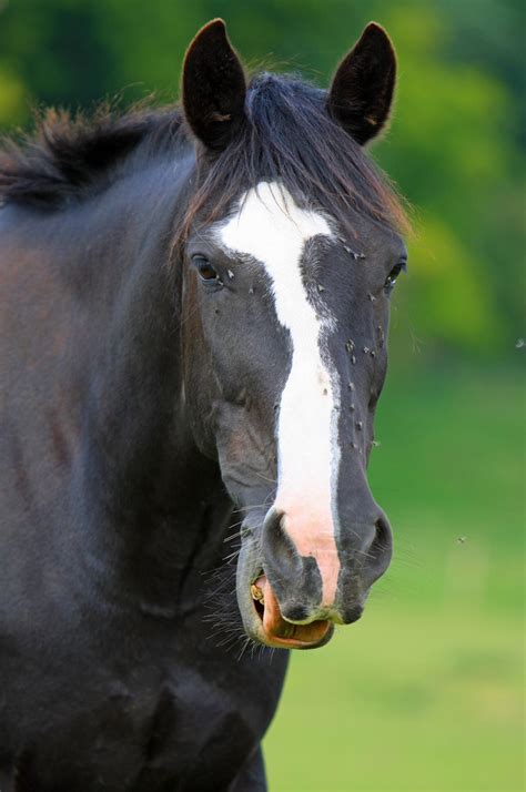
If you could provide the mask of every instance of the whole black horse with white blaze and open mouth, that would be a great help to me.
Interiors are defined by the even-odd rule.
[[[362,613],[406,253],[361,146],[394,82],[372,23],[328,92],[247,85],[215,20],[181,110],[4,144],[2,792],[262,790],[274,648]]]

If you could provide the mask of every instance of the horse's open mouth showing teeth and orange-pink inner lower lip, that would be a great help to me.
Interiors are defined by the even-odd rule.
[[[281,649],[314,649],[331,638],[333,625],[330,621],[318,620],[310,625],[293,625],[286,621],[264,572],[252,583],[251,596],[267,646]]]

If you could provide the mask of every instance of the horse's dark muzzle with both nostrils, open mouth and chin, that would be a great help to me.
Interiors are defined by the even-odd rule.
[[[388,522],[377,507],[365,524],[354,524],[341,538],[338,552],[323,558],[337,565],[337,586],[327,600],[317,558],[302,556],[271,509],[259,540],[243,548],[237,566],[237,601],[245,630],[255,640],[284,649],[327,643],[335,623],[362,616],[368,589],[385,571],[392,555]],[[347,541],[345,541],[347,537]]]

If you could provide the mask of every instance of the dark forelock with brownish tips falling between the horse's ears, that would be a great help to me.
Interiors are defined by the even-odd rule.
[[[240,195],[262,180],[282,183],[299,200],[322,207],[351,234],[356,213],[407,232],[395,189],[328,115],[325,97],[295,77],[255,77],[246,98],[247,123],[220,154],[201,152],[199,186],[182,237],[194,224],[205,226],[227,215]]]

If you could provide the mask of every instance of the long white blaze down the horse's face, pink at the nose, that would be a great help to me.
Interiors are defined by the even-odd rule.
[[[301,272],[305,243],[317,235],[333,236],[325,217],[300,209],[284,187],[269,182],[249,191],[237,213],[219,229],[225,247],[263,264],[277,319],[291,334],[291,370],[277,418],[274,506],[284,512],[284,527],[299,552],[316,558],[323,603],[331,606],[340,568],[335,542],[340,387],[322,349],[334,321],[308,301]]]

